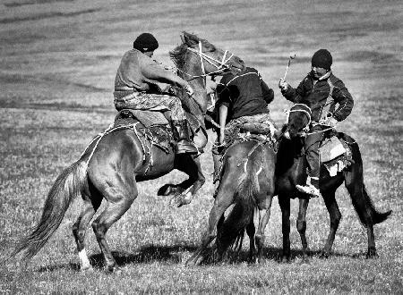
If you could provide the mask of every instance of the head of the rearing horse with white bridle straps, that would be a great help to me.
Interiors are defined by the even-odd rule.
[[[244,70],[242,59],[227,50],[212,45],[205,39],[187,32],[183,32],[181,39],[182,45],[177,46],[170,52],[170,55],[178,69],[188,75],[188,77],[184,77],[186,80],[220,74],[230,70]]]

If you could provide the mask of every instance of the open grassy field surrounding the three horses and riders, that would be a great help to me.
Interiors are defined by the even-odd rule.
[[[38,220],[47,191],[90,139],[113,121],[112,101],[120,57],[138,34],[159,39],[156,58],[182,30],[242,56],[275,89],[270,111],[279,125],[289,106],[277,83],[290,51],[296,52],[287,80],[296,86],[321,47],[333,54],[335,74],[355,98],[342,122],[359,143],[364,181],[379,211],[393,210],[375,226],[378,259],[364,258],[366,233],[347,190],[337,193],[343,215],[333,255],[322,259],[329,215],[322,199],[307,217],[312,250],[301,260],[291,229],[292,262],[279,264],[282,236],[277,200],[266,229],[262,265],[240,259],[223,265],[184,267],[200,243],[212,205],[212,161],[202,159],[206,184],[193,203],[173,209],[156,188],[182,181],[169,173],[142,182],[131,209],[108,232],[122,266],[105,274],[98,243],[87,235],[95,271],[81,273],[71,232],[81,200],[70,207],[47,246],[22,271],[18,261],[1,265],[0,294],[13,293],[402,293],[403,202],[401,194],[403,104],[401,4],[399,1],[73,1],[4,0],[0,4],[0,261]],[[212,140],[213,138],[210,138]],[[211,143],[209,143],[209,151]],[[291,224],[296,223],[292,203]]]

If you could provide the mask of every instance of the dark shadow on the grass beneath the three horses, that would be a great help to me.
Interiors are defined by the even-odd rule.
[[[175,245],[175,246],[156,246],[148,245],[144,246],[135,253],[126,251],[113,251],[112,255],[116,260],[118,266],[144,264],[152,262],[165,262],[172,264],[182,263],[182,254],[184,252],[194,252],[197,249],[194,245]],[[320,250],[311,250],[307,252],[308,257],[321,257],[322,252]],[[282,255],[281,248],[264,248],[263,258],[265,261],[279,262]],[[304,253],[301,249],[291,249],[290,262],[297,261],[299,257],[303,257]],[[331,252],[330,257],[351,257],[359,258],[364,257],[365,253],[347,254],[340,252]],[[101,253],[91,255],[89,257],[90,264],[95,269],[102,269],[105,266],[104,258]],[[249,262],[249,252],[247,250],[240,250],[238,252],[229,252],[227,257],[219,262],[220,264],[243,264]],[[203,259],[202,265],[214,265],[216,262],[213,259]],[[70,262],[68,265],[48,265],[41,266],[39,273],[51,272],[58,269],[70,269],[75,272],[80,272],[80,264],[78,262]]]

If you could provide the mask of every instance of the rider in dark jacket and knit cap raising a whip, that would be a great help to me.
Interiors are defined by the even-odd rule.
[[[279,89],[287,100],[307,105],[312,111],[310,129],[304,140],[308,178],[305,185],[296,185],[297,190],[312,198],[321,195],[319,147],[324,138],[324,131],[334,128],[337,122],[345,120],[354,105],[353,97],[343,81],[331,72],[331,64],[330,52],[320,49],[313,54],[311,72],[296,89],[293,89],[286,80],[279,81]]]

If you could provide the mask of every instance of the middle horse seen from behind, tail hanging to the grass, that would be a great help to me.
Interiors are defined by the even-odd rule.
[[[269,143],[247,139],[228,147],[222,162],[221,181],[210,211],[208,227],[202,235],[201,246],[186,265],[197,265],[211,255],[220,260],[232,246],[240,249],[245,230],[250,239],[250,261],[262,260],[264,229],[270,218],[275,190],[274,149]],[[224,213],[233,204],[225,218]],[[257,232],[253,223],[256,208],[259,212]],[[207,247],[215,238],[216,252],[211,254]]]

